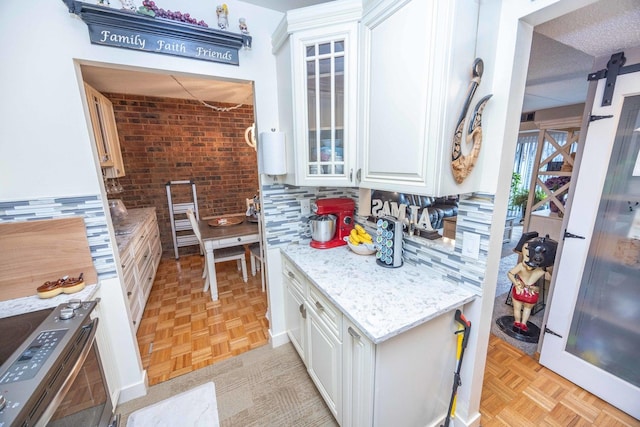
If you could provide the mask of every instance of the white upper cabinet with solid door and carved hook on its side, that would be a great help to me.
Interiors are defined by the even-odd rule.
[[[456,184],[451,153],[472,78],[478,3],[369,4],[360,32],[360,186],[432,196],[477,190],[479,168]]]

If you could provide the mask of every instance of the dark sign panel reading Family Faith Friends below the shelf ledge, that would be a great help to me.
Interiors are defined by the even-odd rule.
[[[91,43],[125,49],[144,50],[167,55],[185,56],[204,61],[238,65],[238,49],[225,46],[192,42],[172,37],[159,37],[144,31],[127,31],[100,24],[89,24]]]

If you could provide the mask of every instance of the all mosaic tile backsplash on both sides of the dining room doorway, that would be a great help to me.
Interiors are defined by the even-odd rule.
[[[300,201],[327,197],[350,197],[359,206],[358,188],[296,187],[285,184],[262,188],[267,246],[279,247],[290,243],[307,243],[311,231],[306,217],[300,212]],[[493,219],[494,197],[490,194],[462,196],[458,205],[455,245],[440,240],[405,237],[404,260],[424,265],[439,272],[454,283],[464,283],[480,290],[487,264],[487,250]],[[80,215],[85,220],[87,239],[99,279],[115,277],[114,248],[109,239],[107,220],[100,196],[43,198],[0,202],[0,222],[29,221]],[[374,225],[359,222],[373,231]],[[480,236],[478,259],[462,256],[464,232]]]

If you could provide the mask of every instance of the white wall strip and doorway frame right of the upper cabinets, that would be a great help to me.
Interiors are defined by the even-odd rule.
[[[506,218],[533,26],[594,1],[481,1],[476,54],[485,63],[483,84],[491,86],[488,92],[493,93],[491,108],[488,105],[483,115],[483,139],[488,141],[483,151],[493,160],[481,158],[477,167],[482,168],[485,191],[496,195],[494,224],[504,224]],[[458,390],[456,426],[480,425],[478,411],[503,231],[504,227],[492,227],[483,297],[465,307],[473,326],[462,368],[465,385]]]

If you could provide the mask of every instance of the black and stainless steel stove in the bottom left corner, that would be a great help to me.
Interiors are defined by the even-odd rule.
[[[96,304],[0,319],[0,427],[118,425],[95,346]]]

